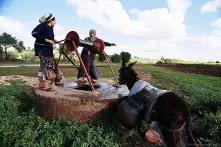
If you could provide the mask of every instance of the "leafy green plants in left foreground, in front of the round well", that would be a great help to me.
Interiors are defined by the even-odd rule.
[[[74,120],[46,121],[38,115],[37,105],[27,94],[22,81],[0,86],[1,146],[120,146],[141,141],[136,130],[117,121],[93,120],[78,124]],[[130,138],[135,137],[135,140]]]

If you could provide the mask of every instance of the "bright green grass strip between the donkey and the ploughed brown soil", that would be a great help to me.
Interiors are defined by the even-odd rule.
[[[159,67],[144,66],[145,71],[149,71],[158,79],[165,89],[172,89],[183,94],[192,105],[199,101],[220,102],[221,99],[221,78],[200,74],[186,74],[165,70]],[[179,88],[170,87],[173,83]]]

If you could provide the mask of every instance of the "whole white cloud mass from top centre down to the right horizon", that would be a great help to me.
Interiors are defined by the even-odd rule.
[[[128,51],[145,58],[220,60],[220,31],[205,35],[186,33],[185,14],[191,0],[167,0],[168,8],[132,9],[119,0],[68,0],[79,17],[111,31],[118,46],[107,53]],[[108,36],[108,35],[106,35]],[[210,54],[208,54],[210,53]]]

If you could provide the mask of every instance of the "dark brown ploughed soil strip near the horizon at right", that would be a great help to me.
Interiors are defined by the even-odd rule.
[[[188,64],[161,64],[156,65],[167,69],[182,71],[185,73],[196,73],[202,75],[210,75],[221,77],[221,66],[208,66],[208,65],[188,65]]]

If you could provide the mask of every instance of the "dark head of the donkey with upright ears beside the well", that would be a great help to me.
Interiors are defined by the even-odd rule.
[[[140,79],[133,69],[135,64],[136,62],[126,65],[122,62],[119,70],[119,84],[126,84],[129,90],[133,87],[134,83]]]

